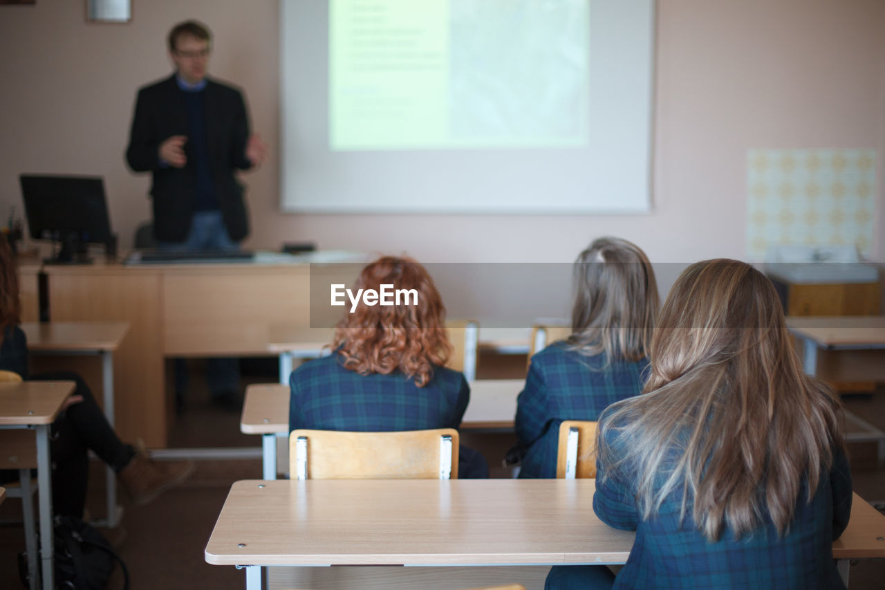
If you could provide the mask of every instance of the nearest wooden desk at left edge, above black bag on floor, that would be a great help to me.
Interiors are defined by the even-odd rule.
[[[28,571],[36,587],[42,578],[44,590],[53,590],[52,570],[52,465],[50,461],[50,425],[73,392],[73,381],[23,381],[0,383],[0,430],[36,431],[37,498],[40,507],[40,559],[42,575],[36,571],[37,552],[33,539],[27,539]],[[30,467],[28,465],[27,467]]]

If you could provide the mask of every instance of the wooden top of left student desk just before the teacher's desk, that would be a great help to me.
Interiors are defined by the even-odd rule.
[[[129,322],[22,322],[27,349],[42,351],[114,351]]]

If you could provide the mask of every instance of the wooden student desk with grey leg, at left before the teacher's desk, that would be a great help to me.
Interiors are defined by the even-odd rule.
[[[129,331],[128,322],[23,322],[27,352],[34,355],[97,355],[102,359],[102,400],[104,416],[114,425],[113,353]],[[96,522],[114,528],[119,521],[117,475],[106,467],[107,519]]]

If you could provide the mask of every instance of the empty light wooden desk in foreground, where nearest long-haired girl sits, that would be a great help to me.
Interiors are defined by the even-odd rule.
[[[205,559],[245,566],[248,590],[273,565],[625,563],[635,533],[596,517],[595,488],[593,479],[239,481]],[[882,538],[885,516],[855,494],[834,557],[885,557]]]

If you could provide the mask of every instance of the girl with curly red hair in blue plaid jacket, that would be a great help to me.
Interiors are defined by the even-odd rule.
[[[289,377],[289,431],[418,431],[455,428],[470,400],[461,373],[443,365],[452,353],[445,307],[427,270],[408,258],[383,257],[362,270],[358,289],[418,292],[417,305],[345,311],[333,353]],[[411,301],[411,300],[410,300]],[[458,477],[489,477],[481,454],[460,447]]]

